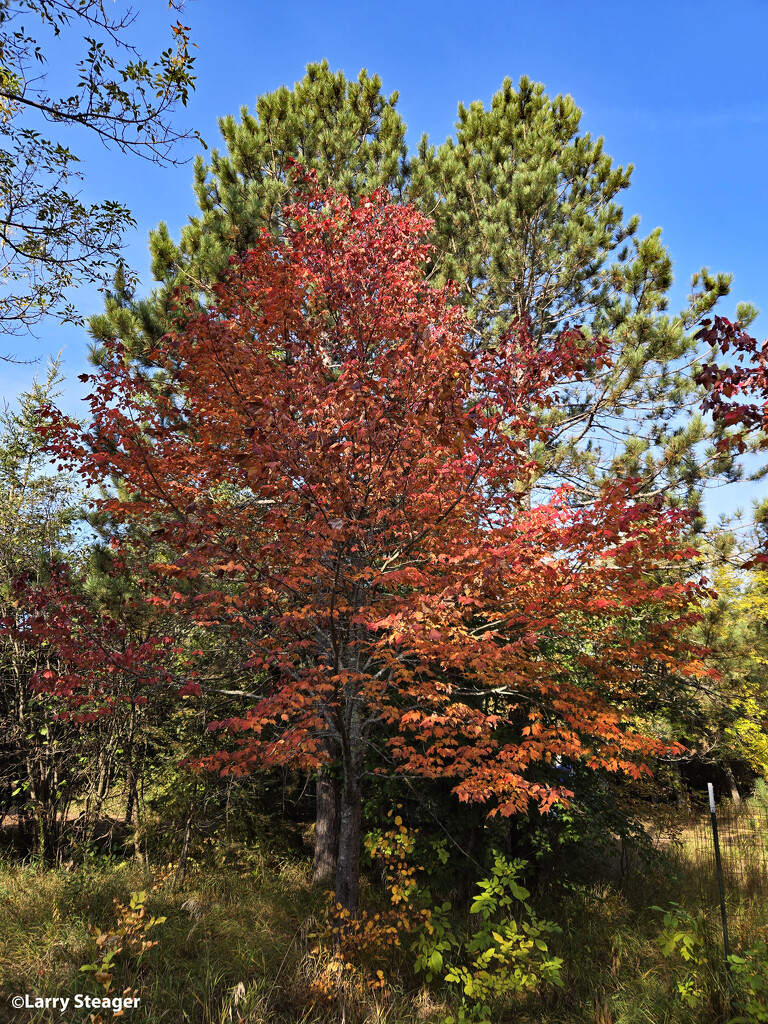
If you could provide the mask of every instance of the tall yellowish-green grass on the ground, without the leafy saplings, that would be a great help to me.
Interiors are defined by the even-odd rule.
[[[748,808],[748,811],[750,809]],[[755,808],[752,809],[756,811]],[[755,817],[755,813],[753,813]],[[739,825],[746,830],[746,818]],[[765,824],[763,818],[760,818]],[[724,829],[725,833],[725,829]],[[724,845],[733,863],[758,851],[745,878],[727,863],[731,886],[729,914],[733,944],[768,934],[768,900],[757,859],[763,847]],[[760,833],[766,842],[766,830]],[[538,992],[499,1006],[494,1024],[694,1024],[726,1020],[722,979],[712,984],[703,1004],[683,1005],[676,979],[684,964],[665,958],[658,943],[660,914],[653,904],[677,901],[691,912],[706,907],[717,923],[709,881],[711,864],[706,835],[683,829],[669,852],[622,880],[599,877],[563,886],[549,884],[535,894],[538,913],[556,921],[562,933],[552,952],[564,961],[564,987]],[[752,854],[750,854],[752,857]],[[222,862],[222,860],[224,862]],[[748,865],[749,866],[749,865]],[[711,872],[710,872],[711,873]],[[153,888],[154,887],[154,888]],[[126,952],[116,958],[113,992],[136,988],[141,1004],[125,1019],[169,1024],[440,1024],[449,1014],[450,992],[427,987],[408,965],[407,941],[392,962],[389,988],[364,990],[355,997],[349,984],[316,997],[317,982],[328,977],[332,953],[317,953],[312,938],[323,918],[324,894],[309,884],[308,865],[300,860],[266,861],[241,851],[219,856],[215,844],[207,858],[194,863],[184,891],[174,893],[172,874],[147,874],[127,861],[87,861],[77,870],[40,869],[0,864],[0,1022],[85,1024],[89,1011],[68,1009],[13,1011],[13,994],[41,996],[102,994],[85,965],[99,956],[96,936],[116,927],[115,900],[146,891],[147,912],[163,915],[152,930],[158,945],[139,958]],[[373,886],[369,899],[375,899]],[[148,933],[147,933],[148,934]],[[721,958],[717,930],[709,932],[714,963]],[[324,973],[325,972],[325,973]],[[717,976],[717,969],[713,977]],[[314,994],[313,994],[314,993]],[[104,1021],[111,1015],[104,1016]]]

